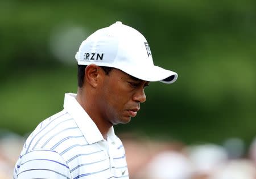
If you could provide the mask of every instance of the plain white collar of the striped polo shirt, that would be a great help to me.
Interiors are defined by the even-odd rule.
[[[64,109],[74,118],[77,126],[89,144],[104,139],[96,124],[85,112],[84,108],[77,102],[75,93],[65,93]],[[114,127],[112,126],[108,132],[108,137],[114,140],[114,135]]]

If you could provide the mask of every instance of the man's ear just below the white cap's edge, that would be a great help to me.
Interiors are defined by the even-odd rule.
[[[85,83],[90,84],[90,86],[96,88],[98,86],[98,82],[100,82],[99,78],[101,78],[102,71],[99,66],[91,64],[86,66],[85,68]]]

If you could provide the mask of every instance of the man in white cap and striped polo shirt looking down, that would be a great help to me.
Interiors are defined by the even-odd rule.
[[[129,178],[113,125],[136,116],[149,82],[177,79],[154,66],[146,39],[121,22],[90,35],[76,60],[77,95],[66,93],[64,109],[31,133],[14,178]]]

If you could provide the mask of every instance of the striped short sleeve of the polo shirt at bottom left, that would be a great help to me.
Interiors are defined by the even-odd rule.
[[[16,173],[14,178],[17,179],[72,178],[63,157],[52,150],[32,150],[20,156],[14,172]]]

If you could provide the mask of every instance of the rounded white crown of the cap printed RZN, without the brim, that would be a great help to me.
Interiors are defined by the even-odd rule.
[[[121,22],[99,29],[84,40],[76,54],[79,65],[95,63],[119,69],[122,66],[154,65],[147,40]]]

